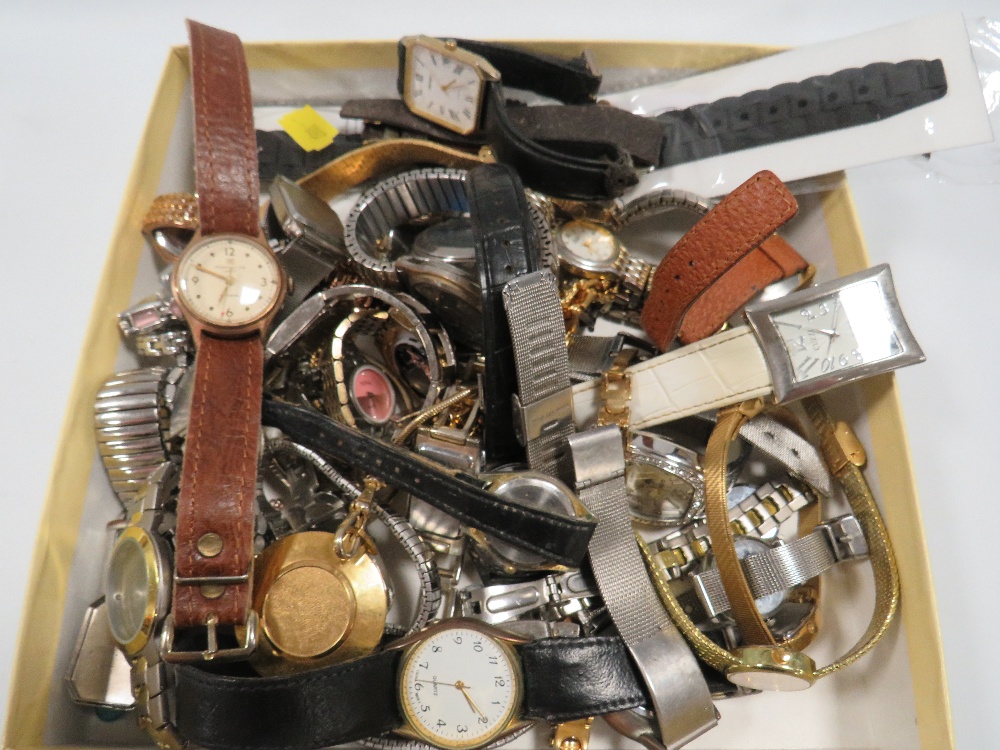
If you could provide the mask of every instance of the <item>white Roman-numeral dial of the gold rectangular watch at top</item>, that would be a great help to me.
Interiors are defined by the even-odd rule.
[[[414,44],[406,75],[407,102],[416,114],[458,133],[476,129],[484,82],[475,67]]]

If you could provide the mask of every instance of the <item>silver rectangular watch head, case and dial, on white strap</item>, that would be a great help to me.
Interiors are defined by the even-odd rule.
[[[779,402],[922,362],[889,266],[749,305]]]

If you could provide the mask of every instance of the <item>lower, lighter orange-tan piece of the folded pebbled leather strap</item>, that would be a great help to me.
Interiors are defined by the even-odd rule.
[[[768,284],[802,273],[806,259],[784,239],[772,234],[744,255],[694,301],[677,338],[692,344],[711,336]]]

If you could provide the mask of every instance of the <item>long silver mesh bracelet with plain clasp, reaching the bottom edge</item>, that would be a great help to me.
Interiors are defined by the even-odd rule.
[[[619,428],[569,439],[580,501],[597,517],[590,564],[604,604],[649,690],[660,738],[679,748],[717,723],[698,661],[660,602],[636,545]]]

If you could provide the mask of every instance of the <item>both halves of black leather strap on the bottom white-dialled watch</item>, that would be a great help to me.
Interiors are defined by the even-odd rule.
[[[617,636],[545,638],[516,649],[525,719],[565,721],[648,705]],[[397,674],[389,649],[346,664],[284,677],[177,668],[177,728],[217,750],[313,750],[397,729]]]

